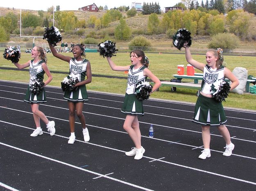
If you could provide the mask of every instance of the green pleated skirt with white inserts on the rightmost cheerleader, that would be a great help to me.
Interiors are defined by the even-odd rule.
[[[222,103],[199,94],[193,121],[202,125],[220,126],[227,122]]]

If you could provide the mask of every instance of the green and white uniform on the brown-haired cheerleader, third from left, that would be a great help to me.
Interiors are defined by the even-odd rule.
[[[145,66],[141,66],[135,70],[134,65],[129,67],[125,101],[121,110],[126,115],[144,115],[142,101],[136,97],[135,89],[138,83],[147,79],[147,76],[143,75],[145,68]]]

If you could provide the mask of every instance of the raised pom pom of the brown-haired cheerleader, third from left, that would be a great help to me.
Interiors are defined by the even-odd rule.
[[[118,49],[116,49],[116,43],[112,43],[111,40],[106,40],[98,46],[98,52],[100,52],[100,56],[103,56],[103,58],[116,56],[116,51],[118,51]]]

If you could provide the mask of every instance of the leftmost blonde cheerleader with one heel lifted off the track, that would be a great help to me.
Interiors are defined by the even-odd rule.
[[[46,65],[47,57],[45,52],[43,51],[43,48],[40,46],[35,46],[31,51],[31,57],[33,59],[31,61],[27,61],[25,64],[14,63],[14,65],[16,65],[16,67],[18,67],[19,69],[29,67],[30,83],[34,79],[39,79],[39,81],[43,82],[43,76],[46,73],[48,79],[44,82],[45,87],[46,85],[48,85],[48,83],[50,83],[50,81],[52,81],[52,74],[50,73]],[[34,94],[30,91],[30,88],[28,87],[24,101],[30,103],[34,121],[36,124],[36,130],[34,130],[34,132],[30,136],[36,137],[37,135],[43,135],[43,130],[41,129],[40,125],[40,119],[46,124],[50,135],[54,135],[54,121],[49,121],[44,113],[39,110],[39,104],[46,102],[45,89],[43,88],[43,90],[39,92],[39,94]]]

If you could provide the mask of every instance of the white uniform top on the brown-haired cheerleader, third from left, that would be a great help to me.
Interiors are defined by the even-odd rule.
[[[126,89],[127,94],[134,94],[136,85],[138,85],[138,83],[143,82],[147,79],[147,76],[143,75],[145,68],[146,68],[145,66],[141,66],[138,69],[134,69],[134,65],[131,65],[129,67],[127,89]]]

